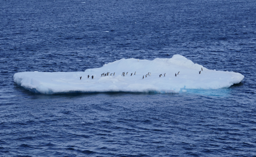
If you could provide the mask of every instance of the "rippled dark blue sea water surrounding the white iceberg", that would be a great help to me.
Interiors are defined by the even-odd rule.
[[[176,94],[56,95],[13,81],[174,54],[244,80]],[[0,0],[0,156],[255,157],[255,76],[255,0]]]

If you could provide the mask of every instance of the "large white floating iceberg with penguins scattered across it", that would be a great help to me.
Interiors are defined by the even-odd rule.
[[[199,71],[201,74],[199,74]],[[136,71],[136,75],[134,75]],[[180,71],[180,72],[179,72]],[[102,76],[103,73],[109,76]],[[122,73],[125,72],[125,76]],[[126,75],[126,73],[128,74]],[[146,74],[151,73],[151,76]],[[175,76],[175,73],[179,75]],[[112,76],[110,74],[112,73]],[[115,75],[113,76],[113,74]],[[131,73],[132,76],[131,76]],[[161,77],[159,75],[162,74]],[[164,77],[164,74],[165,77]],[[87,76],[90,75],[90,78]],[[91,76],[94,76],[92,79]],[[143,78],[144,75],[144,79]],[[80,77],[82,79],[80,80]],[[177,93],[186,89],[228,88],[244,76],[229,71],[216,71],[194,64],[181,55],[156,58],[153,61],[120,59],[101,68],[84,72],[22,72],[14,74],[14,82],[37,93],[57,94],[73,92],[157,92]]]

